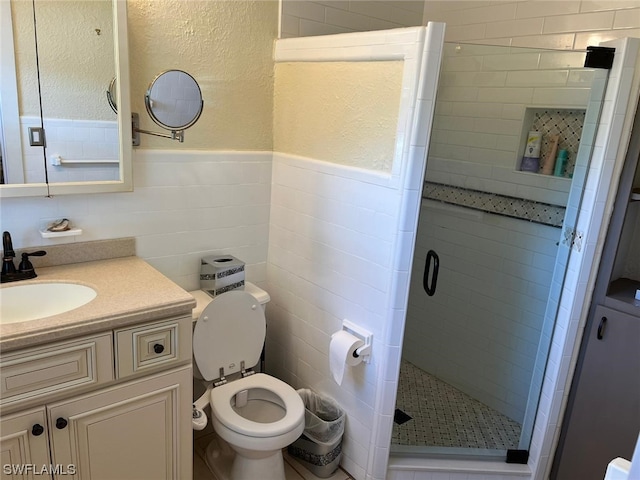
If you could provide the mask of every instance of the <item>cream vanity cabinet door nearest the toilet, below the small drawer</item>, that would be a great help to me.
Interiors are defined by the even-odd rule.
[[[191,478],[191,367],[49,405],[54,463],[82,480]]]

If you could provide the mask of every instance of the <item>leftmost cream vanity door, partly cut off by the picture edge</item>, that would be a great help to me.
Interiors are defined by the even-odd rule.
[[[40,474],[51,464],[44,407],[4,416],[0,423],[0,476],[3,479],[48,478]]]

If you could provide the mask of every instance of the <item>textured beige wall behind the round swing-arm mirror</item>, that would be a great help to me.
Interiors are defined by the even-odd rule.
[[[141,128],[160,130],[144,94],[168,69],[198,81],[204,111],[183,144],[142,136],[142,148],[271,150],[273,40],[278,2],[129,0],[131,104]]]

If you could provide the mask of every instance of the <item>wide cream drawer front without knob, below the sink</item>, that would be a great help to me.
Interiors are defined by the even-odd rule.
[[[3,407],[109,382],[113,380],[111,333],[4,354],[0,379]]]

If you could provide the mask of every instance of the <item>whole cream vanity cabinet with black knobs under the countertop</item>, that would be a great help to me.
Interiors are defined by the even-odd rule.
[[[0,376],[0,478],[191,478],[190,316],[2,354]]]

